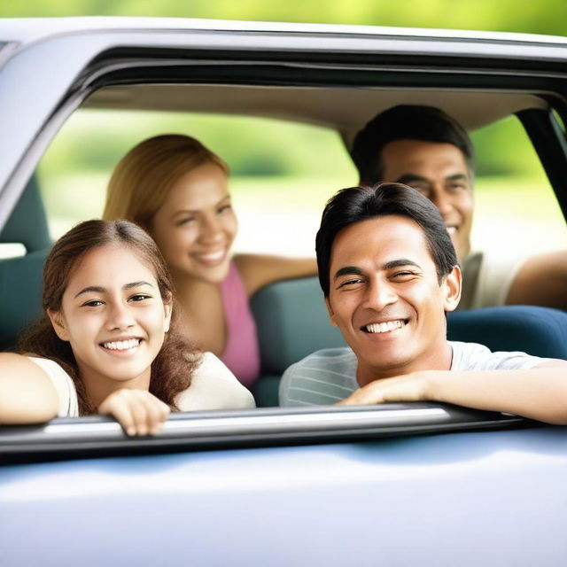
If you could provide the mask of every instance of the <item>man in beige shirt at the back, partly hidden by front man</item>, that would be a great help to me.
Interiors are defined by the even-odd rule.
[[[530,258],[470,252],[474,151],[465,130],[446,113],[394,106],[362,128],[351,154],[360,183],[406,183],[439,208],[462,265],[461,309],[504,304],[567,309],[567,252]]]

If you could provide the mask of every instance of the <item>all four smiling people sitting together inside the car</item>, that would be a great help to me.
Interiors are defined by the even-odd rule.
[[[99,413],[145,435],[170,409],[251,408],[245,386],[260,353],[249,300],[317,268],[350,348],[292,365],[283,406],[439,400],[567,423],[566,361],[449,342],[446,323],[462,295],[467,308],[565,307],[563,252],[504,266],[506,277],[470,252],[472,146],[438,109],[378,115],[352,155],[361,186],[325,207],[315,265],[232,257],[224,161],[189,136],[138,144],[113,172],[105,220],[83,222],[50,252],[45,314],[21,338],[23,354],[0,353],[0,423]]]

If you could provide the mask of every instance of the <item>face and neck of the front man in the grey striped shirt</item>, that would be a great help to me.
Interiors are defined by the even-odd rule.
[[[448,369],[445,312],[461,272],[439,284],[422,229],[390,215],[341,230],[331,250],[330,321],[358,359],[359,384],[420,369]]]

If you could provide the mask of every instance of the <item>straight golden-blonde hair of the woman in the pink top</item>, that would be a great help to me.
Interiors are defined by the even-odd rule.
[[[108,183],[103,219],[128,219],[144,229],[182,176],[206,163],[229,166],[195,138],[177,134],[154,136],[137,144],[120,159]]]

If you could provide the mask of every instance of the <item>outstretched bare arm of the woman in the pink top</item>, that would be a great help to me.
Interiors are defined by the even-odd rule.
[[[294,277],[315,276],[315,258],[284,258],[263,254],[239,254],[235,257],[238,272],[245,283],[248,297],[268,285]]]

